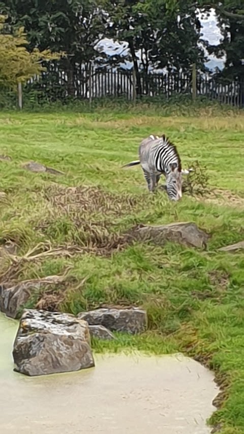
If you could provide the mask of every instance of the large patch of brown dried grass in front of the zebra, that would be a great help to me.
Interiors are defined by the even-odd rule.
[[[130,236],[114,230],[114,221],[135,210],[139,205],[137,198],[84,186],[55,185],[48,187],[44,194],[50,217],[38,222],[36,229],[50,236],[58,230],[60,217],[67,217],[72,224],[69,230],[71,250],[106,256],[123,249],[130,241]]]

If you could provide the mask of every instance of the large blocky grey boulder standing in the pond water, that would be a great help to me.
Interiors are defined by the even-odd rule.
[[[29,309],[14,341],[15,371],[44,375],[95,366],[88,324],[74,315]]]

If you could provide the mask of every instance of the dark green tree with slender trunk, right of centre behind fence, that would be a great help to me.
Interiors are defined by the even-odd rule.
[[[169,13],[164,0],[104,2],[111,25],[106,36],[126,41],[129,56],[137,74],[137,93],[141,94],[139,71],[147,76],[151,68],[191,69],[196,63],[204,69],[204,55],[200,41],[200,22],[195,5],[190,8],[181,2],[177,13]],[[190,43],[189,43],[190,41]],[[141,52],[141,59],[138,58]],[[109,62],[121,62],[121,56],[111,56]]]

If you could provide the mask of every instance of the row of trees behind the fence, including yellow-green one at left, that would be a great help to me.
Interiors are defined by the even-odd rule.
[[[123,68],[130,62],[141,95],[141,76],[151,70],[206,71],[206,54],[226,56],[225,80],[244,81],[242,0],[4,0],[0,1],[0,85],[14,86],[46,70],[43,79],[67,77],[75,95],[75,76],[83,68]],[[222,40],[202,39],[199,12],[215,9]],[[103,38],[123,41],[111,55],[99,49]],[[139,54],[138,54],[139,53]],[[6,62],[6,59],[8,60]],[[58,67],[54,67],[58,65]],[[56,74],[56,78],[55,78]]]

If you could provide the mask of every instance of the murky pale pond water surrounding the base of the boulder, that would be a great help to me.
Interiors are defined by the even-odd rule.
[[[17,322],[0,313],[0,432],[207,434],[218,388],[175,356],[96,355],[96,368],[29,378],[13,371]]]

